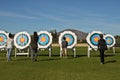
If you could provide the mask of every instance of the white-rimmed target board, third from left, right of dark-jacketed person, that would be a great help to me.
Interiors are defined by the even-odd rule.
[[[40,31],[38,33],[38,47],[47,48],[52,44],[52,35],[47,31]]]

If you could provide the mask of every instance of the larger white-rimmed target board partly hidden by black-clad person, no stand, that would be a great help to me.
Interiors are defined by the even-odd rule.
[[[92,47],[92,48],[97,48],[98,45],[98,40],[100,39],[99,34],[103,34],[100,31],[93,31],[88,34],[86,40],[87,43]]]

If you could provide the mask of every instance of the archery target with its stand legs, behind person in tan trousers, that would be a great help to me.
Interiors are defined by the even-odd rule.
[[[63,37],[65,37],[66,41],[68,42],[67,49],[71,49],[73,51],[74,57],[76,57],[75,45],[77,43],[77,36],[75,35],[75,33],[71,32],[71,31],[64,31],[59,36],[60,57],[62,57],[62,45],[61,44],[62,44]]]

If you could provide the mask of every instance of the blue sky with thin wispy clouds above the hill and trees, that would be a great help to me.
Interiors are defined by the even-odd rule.
[[[120,0],[0,0],[0,30],[54,29],[120,35]]]

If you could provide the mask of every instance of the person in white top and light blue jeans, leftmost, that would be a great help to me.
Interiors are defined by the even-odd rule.
[[[12,34],[9,33],[9,38],[7,39],[7,42],[6,42],[7,61],[11,61],[12,47],[13,47],[13,37],[12,37]]]

